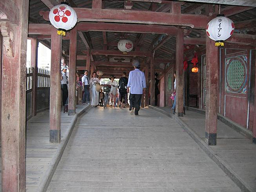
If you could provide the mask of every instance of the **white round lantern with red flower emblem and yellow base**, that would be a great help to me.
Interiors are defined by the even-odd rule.
[[[58,35],[66,36],[66,31],[72,29],[77,23],[75,10],[66,5],[60,4],[50,10],[49,18],[51,24],[58,29]]]

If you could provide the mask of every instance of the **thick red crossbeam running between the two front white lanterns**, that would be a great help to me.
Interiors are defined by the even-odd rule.
[[[115,22],[187,26],[195,29],[205,29],[209,18],[203,15],[173,14],[152,11],[131,11],[111,9],[74,8],[78,22]],[[49,11],[40,11],[44,19],[49,20]]]

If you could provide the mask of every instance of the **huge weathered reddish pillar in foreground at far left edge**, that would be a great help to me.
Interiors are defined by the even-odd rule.
[[[2,0],[1,13],[12,18],[0,22],[2,54],[2,191],[26,191],[26,60],[28,0],[15,4]],[[5,10],[5,8],[8,10]],[[8,14],[9,15],[9,14]],[[15,19],[16,18],[16,19]],[[12,22],[13,21],[13,22]]]

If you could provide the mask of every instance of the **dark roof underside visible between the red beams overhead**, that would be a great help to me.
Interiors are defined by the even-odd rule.
[[[30,24],[50,24],[42,16],[39,15],[39,11],[49,11],[50,9],[44,4],[47,0],[33,0],[30,1],[29,7],[29,23]],[[44,3],[42,3],[44,2]],[[47,1],[50,2],[50,1]],[[152,3],[157,1],[102,1],[103,9],[115,9],[115,10],[136,10],[136,11],[155,11],[155,12],[170,12],[172,10],[172,1],[161,1],[160,3]],[[208,1],[210,2],[210,1]],[[227,1],[229,2],[229,1]],[[243,2],[243,1],[241,1]],[[92,1],[84,0],[70,0],[71,7],[78,8],[92,8]],[[236,27],[236,33],[252,34],[256,33],[256,9],[254,7],[242,7],[231,5],[212,5],[206,3],[193,2],[181,2],[181,14],[192,15],[206,15],[209,16],[209,9],[218,12],[228,13],[228,17],[233,20]],[[243,8],[243,11],[241,11]],[[235,10],[236,12],[232,11]],[[233,12],[233,13],[230,13]],[[248,25],[243,25],[243,22],[248,22]],[[103,24],[103,23],[102,23]],[[144,24],[147,25],[147,24]],[[175,26],[178,27],[178,26]],[[182,27],[186,30],[185,37],[187,38],[205,38],[205,30],[192,29],[190,27]],[[167,64],[175,60],[176,54],[176,36],[159,34],[159,33],[136,33],[136,32],[110,32],[110,31],[82,31],[77,37],[77,55],[84,55],[87,49],[90,50],[118,50],[117,42],[120,39],[130,39],[134,42],[134,50],[150,52],[154,54],[154,58],[159,62]],[[87,44],[84,42],[86,40]],[[50,39],[41,40],[45,45],[50,45]],[[62,48],[67,55],[69,55],[69,40],[63,40]],[[194,51],[205,49],[205,45],[184,45],[184,54],[190,57]],[[117,61],[126,62],[134,58],[133,56],[115,56],[115,55],[93,55],[93,61]],[[143,56],[137,57],[142,62],[146,62],[147,59]],[[85,60],[77,60],[77,66],[84,66]],[[160,69],[159,64],[156,65],[156,69]],[[117,66],[113,66],[116,69]],[[97,70],[105,69],[104,66],[96,66]],[[108,69],[112,68],[108,66]],[[122,67],[124,69],[124,67]]]

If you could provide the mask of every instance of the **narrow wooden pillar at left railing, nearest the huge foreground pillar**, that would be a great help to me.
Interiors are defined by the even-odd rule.
[[[37,95],[37,55],[38,55],[38,40],[31,39],[31,67],[33,68],[32,76],[32,116],[36,115],[36,95]]]

